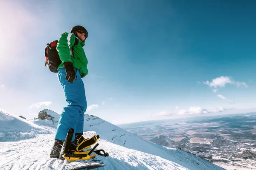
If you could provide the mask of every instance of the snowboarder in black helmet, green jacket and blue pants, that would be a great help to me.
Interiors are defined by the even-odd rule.
[[[58,80],[64,89],[68,105],[63,108],[58,122],[55,142],[50,153],[51,158],[59,157],[70,128],[75,132],[71,140],[74,146],[78,146],[78,141],[84,140],[82,134],[87,101],[81,78],[88,74],[88,61],[83,49],[87,37],[88,32],[84,27],[74,26],[70,33],[62,34],[57,43],[56,49],[61,59],[61,64],[58,66]]]

